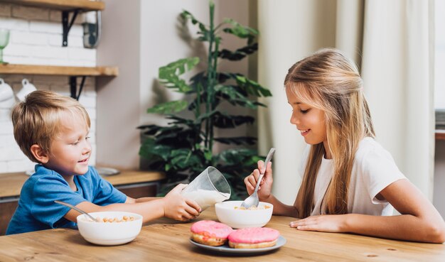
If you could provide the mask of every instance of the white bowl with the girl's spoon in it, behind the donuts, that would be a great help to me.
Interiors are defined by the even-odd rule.
[[[242,210],[242,201],[225,201],[215,204],[215,212],[218,220],[234,229],[245,227],[262,227],[269,222],[274,211],[274,205],[266,202],[259,202],[259,209]],[[268,206],[269,208],[265,208]]]

